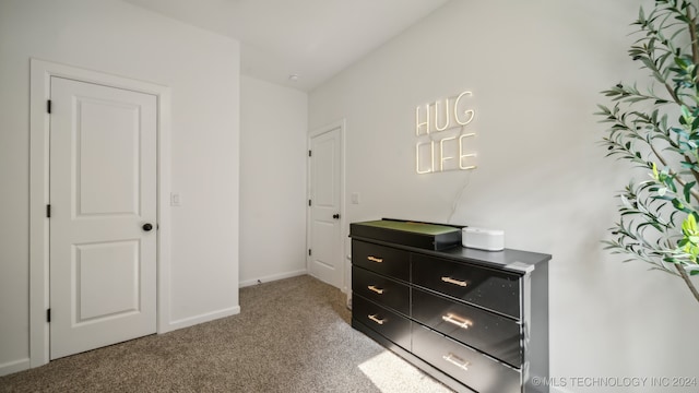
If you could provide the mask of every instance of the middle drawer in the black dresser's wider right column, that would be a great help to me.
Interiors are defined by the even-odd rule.
[[[522,333],[511,319],[419,289],[413,289],[411,315],[509,365],[522,366]]]

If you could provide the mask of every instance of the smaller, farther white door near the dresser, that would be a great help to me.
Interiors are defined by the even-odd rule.
[[[309,273],[342,288],[341,131],[333,129],[310,141]]]

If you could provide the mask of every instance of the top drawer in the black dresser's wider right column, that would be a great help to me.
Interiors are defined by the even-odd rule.
[[[514,274],[412,254],[413,284],[520,319],[520,277]]]

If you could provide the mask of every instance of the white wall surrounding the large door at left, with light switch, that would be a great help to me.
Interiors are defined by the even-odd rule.
[[[239,44],[118,0],[3,0],[0,374],[29,356],[31,57],[171,87],[182,203],[171,210],[168,329],[237,312]]]

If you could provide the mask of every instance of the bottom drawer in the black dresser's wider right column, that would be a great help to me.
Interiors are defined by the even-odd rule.
[[[481,393],[521,392],[519,371],[413,324],[413,353],[459,382]]]

